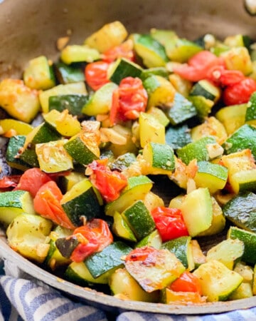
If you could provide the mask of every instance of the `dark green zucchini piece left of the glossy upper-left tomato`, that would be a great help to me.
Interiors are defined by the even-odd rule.
[[[66,65],[65,63],[57,63],[55,65],[55,74],[61,84],[79,83],[85,81],[85,73],[81,66]]]

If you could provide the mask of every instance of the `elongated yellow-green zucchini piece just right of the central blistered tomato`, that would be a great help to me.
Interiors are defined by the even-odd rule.
[[[116,211],[122,213],[135,201],[143,200],[152,186],[153,182],[147,176],[139,175],[128,178],[127,187],[122,190],[117,200],[113,200],[106,205],[105,213],[107,215],[114,215]]]

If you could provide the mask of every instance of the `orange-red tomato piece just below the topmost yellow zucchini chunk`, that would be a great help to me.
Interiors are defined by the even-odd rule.
[[[115,46],[112,49],[105,51],[102,54],[102,60],[107,61],[108,63],[117,60],[117,58],[126,58],[130,61],[134,61],[134,51],[132,39],[124,41],[119,46]]]

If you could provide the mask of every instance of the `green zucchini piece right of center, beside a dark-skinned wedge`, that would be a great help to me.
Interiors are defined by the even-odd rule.
[[[181,161],[186,165],[188,165],[190,161],[193,161],[193,159],[197,161],[209,161],[209,148],[210,146],[215,146],[215,142],[213,136],[206,136],[179,148],[176,153],[178,158],[181,158]]]

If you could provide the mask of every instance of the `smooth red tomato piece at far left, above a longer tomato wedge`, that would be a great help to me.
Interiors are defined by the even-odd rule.
[[[34,198],[39,188],[50,180],[50,177],[40,168],[29,168],[21,175],[15,190],[27,190]]]

